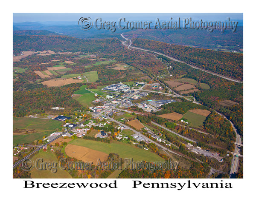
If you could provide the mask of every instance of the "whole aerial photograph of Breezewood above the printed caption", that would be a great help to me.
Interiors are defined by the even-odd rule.
[[[13,13],[12,29],[13,178],[243,178],[243,13]]]

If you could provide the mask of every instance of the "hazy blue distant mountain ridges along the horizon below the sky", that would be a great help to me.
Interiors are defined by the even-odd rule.
[[[141,38],[156,40],[175,45],[195,46],[197,48],[214,49],[217,51],[243,52],[243,27],[238,26],[236,32],[215,30],[189,29],[119,29],[110,32],[108,29],[82,30],[76,22],[23,22],[13,23],[14,34],[18,35],[62,35],[86,40],[115,38],[123,40],[122,33],[132,39]],[[16,31],[16,32],[15,32]],[[19,32],[17,32],[19,31]],[[35,32],[33,32],[35,31]],[[36,32],[38,31],[38,32]]]

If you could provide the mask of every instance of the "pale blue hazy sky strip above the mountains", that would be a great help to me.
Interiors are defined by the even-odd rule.
[[[13,13],[13,23],[26,21],[44,22],[44,21],[78,21],[81,17],[90,17],[91,19],[101,17],[105,20],[118,20],[125,17],[129,20],[177,20],[177,17],[192,17],[193,20],[212,20],[224,21],[228,17],[233,20],[243,20],[243,13]]]

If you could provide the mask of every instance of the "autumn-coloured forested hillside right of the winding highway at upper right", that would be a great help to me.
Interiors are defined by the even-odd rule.
[[[143,39],[134,39],[133,45],[169,55],[208,71],[243,80],[243,54],[191,48]]]

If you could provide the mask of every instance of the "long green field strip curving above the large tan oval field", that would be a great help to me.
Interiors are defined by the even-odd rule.
[[[150,150],[140,149],[131,144],[124,144],[121,142],[111,142],[110,144],[104,142],[96,142],[85,139],[75,139],[69,144],[87,147],[93,150],[101,151],[106,154],[117,153],[123,159],[133,159],[134,161],[164,161],[160,156],[150,152]]]

